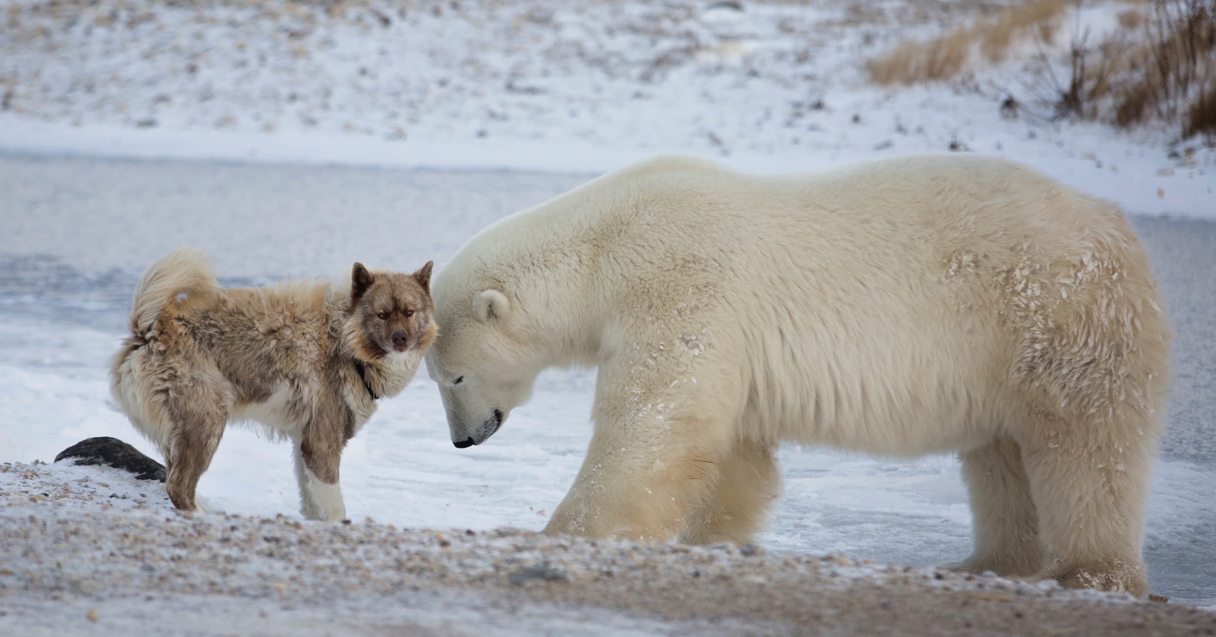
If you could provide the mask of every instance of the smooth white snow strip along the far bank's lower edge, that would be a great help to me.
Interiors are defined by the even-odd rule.
[[[1100,136],[1102,130],[1076,136]],[[1097,141],[1097,140],[1096,140]],[[1118,148],[1108,148],[1110,157]],[[722,163],[736,170],[779,174],[824,170],[878,157],[863,150],[809,153],[733,153],[728,157],[672,147],[629,150],[580,140],[449,140],[390,141],[325,133],[226,133],[209,130],[140,130],[113,125],[74,128],[0,114],[0,152],[24,156],[113,158],[139,160],[220,162],[259,165],[334,165],[446,170],[539,171],[593,176],[659,152],[674,152]],[[941,153],[942,151],[925,151]],[[1085,157],[1003,152],[1082,192],[1118,203],[1143,215],[1216,219],[1216,167],[1177,167],[1169,160],[1127,154],[1104,163],[1093,152]],[[1128,153],[1131,151],[1127,151]]]

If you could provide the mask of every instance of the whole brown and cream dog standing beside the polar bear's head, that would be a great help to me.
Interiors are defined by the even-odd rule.
[[[344,519],[342,450],[377,399],[409,384],[435,337],[432,265],[406,275],[356,263],[342,282],[227,289],[196,249],[150,266],[111,391],[164,455],[174,506],[197,508],[225,425],[248,422],[292,441],[300,512]]]

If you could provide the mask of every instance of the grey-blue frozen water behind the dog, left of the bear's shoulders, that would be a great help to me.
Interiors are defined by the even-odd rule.
[[[356,260],[412,272],[443,261],[490,221],[590,179],[2,154],[0,175],[0,253],[30,258],[4,267],[38,270],[28,276],[80,292],[96,286],[36,258],[55,255],[74,276],[137,276],[165,253],[196,246],[229,283],[331,277]]]

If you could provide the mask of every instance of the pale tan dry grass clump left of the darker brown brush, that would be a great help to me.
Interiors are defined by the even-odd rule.
[[[866,63],[869,77],[882,84],[948,80],[978,58],[1001,62],[1009,46],[1024,38],[1051,41],[1066,0],[1035,0],[1008,7],[997,16],[925,43],[903,43]]]

